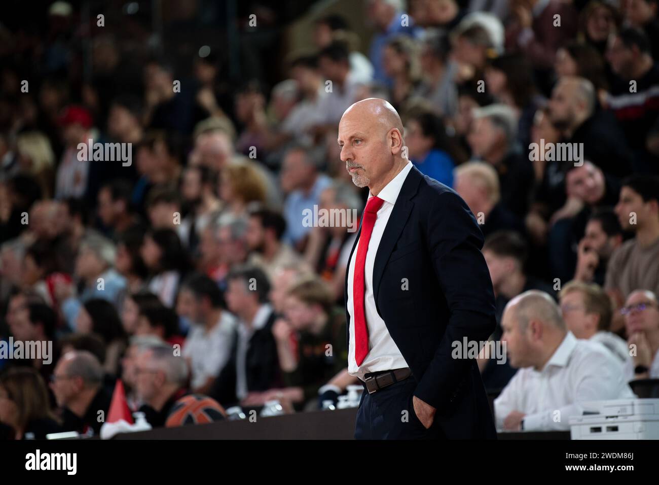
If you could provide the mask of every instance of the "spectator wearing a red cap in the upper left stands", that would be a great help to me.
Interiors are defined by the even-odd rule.
[[[90,160],[86,156],[80,157],[83,158],[82,161],[79,160],[78,144],[87,145],[88,140],[92,138],[92,115],[81,106],[67,106],[59,117],[59,125],[62,128],[65,150],[57,168],[55,198],[80,198],[86,193]]]

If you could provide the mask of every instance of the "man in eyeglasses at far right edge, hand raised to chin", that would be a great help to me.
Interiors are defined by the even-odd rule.
[[[620,313],[625,317],[629,337],[627,343],[632,354],[625,364],[625,377],[628,381],[659,379],[659,307],[656,295],[649,290],[636,290],[629,295]]]

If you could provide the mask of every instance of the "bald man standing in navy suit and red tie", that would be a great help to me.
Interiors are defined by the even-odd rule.
[[[453,342],[496,327],[476,219],[413,167],[385,100],[348,108],[338,143],[353,183],[370,189],[345,281],[348,370],[364,385],[355,437],[496,437],[475,360],[451,356]]]

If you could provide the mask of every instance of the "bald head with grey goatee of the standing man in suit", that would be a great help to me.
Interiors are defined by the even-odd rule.
[[[367,98],[345,110],[337,141],[353,183],[373,195],[408,163],[401,117],[386,100]]]

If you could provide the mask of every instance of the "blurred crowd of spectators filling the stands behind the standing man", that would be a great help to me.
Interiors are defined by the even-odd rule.
[[[368,189],[337,125],[368,97],[391,102],[409,159],[473,211],[499,317],[525,290],[576,295],[561,309],[577,338],[606,333],[627,367],[659,377],[658,11],[5,3],[0,338],[50,340],[55,356],[0,360],[0,422],[16,437],[98,434],[117,378],[154,426],[186,393],[293,412],[357,383],[343,292],[358,220],[304,215],[361,214]],[[130,163],[80,161],[88,140],[130,143]],[[545,152],[559,143],[583,151]],[[479,365],[493,393],[515,372]]]

